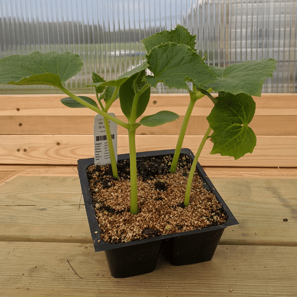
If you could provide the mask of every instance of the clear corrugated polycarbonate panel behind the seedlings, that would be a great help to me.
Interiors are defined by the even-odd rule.
[[[197,35],[206,63],[279,61],[263,92],[297,93],[297,0],[1,0],[0,58],[33,51],[79,54],[82,71],[67,81],[74,93],[94,70],[113,79],[145,59],[141,39],[181,24]],[[2,86],[0,94],[56,93],[47,86]],[[157,93],[176,93],[162,84]]]

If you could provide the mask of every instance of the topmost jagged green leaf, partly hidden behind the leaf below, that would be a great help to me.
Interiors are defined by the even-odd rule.
[[[177,25],[174,30],[171,31],[162,31],[155,33],[147,38],[141,40],[144,44],[146,51],[149,53],[154,47],[160,44],[166,44],[168,42],[176,44],[185,44],[188,45],[192,50],[195,50],[196,45],[196,35],[191,35],[189,31]]]

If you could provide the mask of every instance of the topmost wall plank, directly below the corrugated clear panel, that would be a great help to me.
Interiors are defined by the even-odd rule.
[[[80,94],[96,100],[92,94]],[[216,96],[216,94],[213,94]],[[53,95],[0,95],[0,115],[95,115],[88,108],[68,108],[61,104],[63,94]],[[297,115],[297,94],[262,94],[253,96],[256,102],[256,115]],[[178,111],[184,115],[189,102],[188,94],[151,94],[150,102],[144,115],[160,110]],[[192,115],[209,115],[213,103],[206,96],[195,104]],[[123,115],[119,100],[110,108],[110,112]]]

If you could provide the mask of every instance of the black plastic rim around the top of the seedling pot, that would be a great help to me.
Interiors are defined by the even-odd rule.
[[[136,157],[142,157],[142,156],[166,156],[166,155],[173,155],[174,154],[174,149],[173,150],[160,150],[160,151],[144,151],[144,152],[138,152],[136,153]],[[194,159],[194,155],[192,151],[188,148],[182,148],[181,154],[186,154],[189,156],[192,160]],[[118,155],[118,161],[129,159],[130,155],[129,154],[121,154]],[[222,229],[226,228],[228,226],[233,226],[237,225],[238,221],[234,217],[233,213],[230,211],[229,207],[221,197],[221,195],[218,193],[216,188],[214,187],[213,183],[210,181],[210,179],[207,177],[205,171],[203,170],[202,166],[197,162],[196,165],[196,170],[199,176],[202,178],[204,187],[212,192],[217,200],[222,204],[222,207],[224,211],[228,214],[228,221],[222,225],[218,226],[211,226],[211,227],[206,227],[202,229],[196,229],[196,230],[191,230],[191,231],[185,231],[185,232],[178,232],[178,233],[172,233],[172,234],[161,234],[156,237],[151,237],[151,238],[145,238],[145,239],[140,239],[136,241],[129,241],[127,243],[106,243],[103,241],[100,237],[100,229],[98,226],[98,222],[96,220],[96,214],[95,214],[95,208],[93,204],[92,197],[90,195],[90,187],[89,187],[89,182],[88,182],[88,177],[86,170],[90,165],[94,165],[94,158],[87,158],[87,159],[79,159],[78,161],[78,172],[79,172],[79,179],[80,179],[80,184],[82,188],[82,193],[84,196],[84,205],[89,221],[89,226],[90,226],[90,231],[93,239],[93,244],[95,251],[106,251],[114,248],[121,248],[121,247],[127,247],[135,244],[141,244],[141,243],[146,243],[146,242],[152,242],[152,241],[158,241],[158,240],[163,240],[163,239],[168,239],[172,237],[180,237],[183,235],[190,235],[190,234],[198,234],[198,233],[203,233],[207,231],[212,231],[212,230],[217,230],[217,229]]]

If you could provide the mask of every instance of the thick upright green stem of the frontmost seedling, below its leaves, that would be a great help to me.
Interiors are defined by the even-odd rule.
[[[136,145],[135,145],[135,129],[128,131],[129,136],[129,152],[130,152],[130,212],[137,214],[137,168],[136,168]]]

